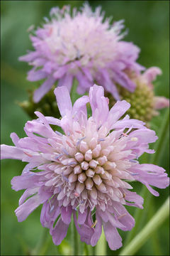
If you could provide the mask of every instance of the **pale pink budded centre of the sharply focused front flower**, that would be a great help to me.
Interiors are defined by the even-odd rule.
[[[118,178],[118,169],[128,169],[134,164],[123,157],[124,152],[127,156],[131,151],[120,152],[128,136],[121,134],[116,142],[120,145],[114,146],[115,138],[111,134],[103,136],[102,127],[98,132],[94,124],[90,130],[90,135],[86,130],[81,138],[77,134],[63,136],[61,151],[52,163],[55,171],[52,184],[58,188],[57,199],[63,206],[71,204],[73,208],[79,208],[81,213],[88,206],[93,210],[98,205],[105,210],[111,199],[125,203],[119,188],[126,185]],[[128,178],[125,171],[122,178]]]

